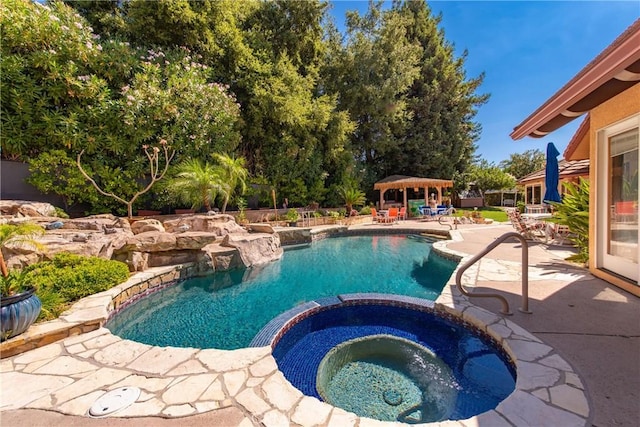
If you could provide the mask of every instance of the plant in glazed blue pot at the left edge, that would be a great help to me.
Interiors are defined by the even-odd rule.
[[[9,271],[2,249],[9,244],[40,248],[42,245],[35,237],[43,233],[42,227],[31,223],[0,225],[0,341],[26,331],[42,309],[28,274],[25,271]]]

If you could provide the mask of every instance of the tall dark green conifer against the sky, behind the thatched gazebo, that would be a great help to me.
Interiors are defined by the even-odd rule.
[[[474,121],[488,95],[478,94],[484,75],[468,78],[467,52],[455,57],[454,46],[423,1],[397,2],[392,13],[401,17],[407,43],[420,46],[419,75],[406,93],[410,120],[397,129],[393,155],[387,160],[395,172],[451,178],[464,173],[473,161],[481,127]]]

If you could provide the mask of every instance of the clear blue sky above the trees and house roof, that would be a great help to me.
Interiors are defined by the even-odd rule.
[[[366,0],[334,0],[331,14],[342,28],[344,13],[365,13]],[[513,128],[575,76],[640,17],[640,1],[429,1],[458,55],[468,51],[468,77],[485,73],[489,93],[476,120],[482,124],[480,156],[499,163],[512,153],[552,141],[564,152],[579,117],[545,138],[513,141]],[[560,156],[561,157],[561,156]]]

